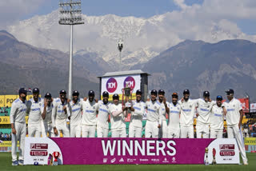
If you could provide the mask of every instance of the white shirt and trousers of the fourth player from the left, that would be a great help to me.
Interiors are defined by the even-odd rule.
[[[65,113],[63,107],[66,106]],[[67,127],[66,120],[70,116],[70,103],[62,101],[60,98],[54,99],[54,108],[52,113],[52,125],[58,129],[58,136],[54,134],[54,137],[60,137],[60,131],[62,131],[63,137],[70,137],[70,130]]]

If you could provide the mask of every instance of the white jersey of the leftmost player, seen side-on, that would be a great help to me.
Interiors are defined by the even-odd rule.
[[[21,101],[19,98],[17,98],[11,105],[10,109],[10,123],[13,124],[14,122],[19,123],[26,123],[25,117],[26,117],[26,103]]]

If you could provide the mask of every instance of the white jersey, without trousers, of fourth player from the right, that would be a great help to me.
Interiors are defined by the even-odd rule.
[[[180,125],[182,126],[190,126],[193,125],[194,122],[194,109],[195,102],[191,99],[188,101],[178,101],[179,105],[181,105],[181,117],[180,117]]]

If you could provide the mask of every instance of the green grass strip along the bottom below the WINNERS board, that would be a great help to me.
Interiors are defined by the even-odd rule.
[[[206,170],[222,170],[222,171],[235,171],[235,170],[256,170],[256,153],[246,153],[249,165],[11,165],[10,153],[0,153],[0,171],[30,171],[30,170],[60,170],[60,171],[78,171],[78,170],[132,170],[132,171],[158,171],[158,170],[193,170],[193,171],[206,171]]]

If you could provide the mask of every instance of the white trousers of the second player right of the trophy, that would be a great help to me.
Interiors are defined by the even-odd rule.
[[[146,121],[146,126],[145,126],[145,137],[154,137],[158,138],[158,121]]]

